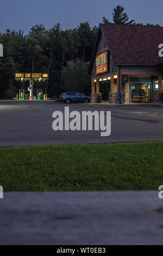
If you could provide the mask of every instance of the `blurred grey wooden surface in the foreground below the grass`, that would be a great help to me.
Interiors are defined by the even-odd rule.
[[[146,192],[4,193],[1,245],[162,245],[163,199]]]

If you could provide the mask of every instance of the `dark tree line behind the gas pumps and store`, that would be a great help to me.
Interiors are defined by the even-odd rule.
[[[129,16],[121,5],[113,9],[112,22],[103,17],[104,23],[142,25]],[[147,26],[151,25],[147,23]],[[49,97],[59,97],[72,90],[91,93],[89,64],[95,46],[98,27],[89,22],[63,31],[60,24],[51,29],[36,24],[28,34],[6,30],[0,33],[4,57],[0,59],[0,99],[12,99],[18,89],[27,89],[29,82],[14,80],[15,72],[48,72],[46,82],[37,82],[35,89],[43,89]]]

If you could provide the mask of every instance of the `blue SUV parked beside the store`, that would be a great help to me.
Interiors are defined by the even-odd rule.
[[[82,93],[76,93],[76,92],[65,92],[60,95],[60,100],[64,101],[65,103],[71,103],[71,102],[90,102],[91,97],[85,96]]]

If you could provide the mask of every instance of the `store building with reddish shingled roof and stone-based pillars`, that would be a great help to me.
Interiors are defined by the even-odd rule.
[[[99,24],[91,101],[163,103],[163,27]]]

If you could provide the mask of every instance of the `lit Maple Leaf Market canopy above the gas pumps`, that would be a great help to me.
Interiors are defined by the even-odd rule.
[[[39,81],[45,81],[48,79],[48,74],[45,73],[15,73],[15,80],[39,80]]]

